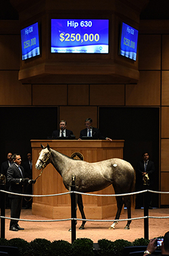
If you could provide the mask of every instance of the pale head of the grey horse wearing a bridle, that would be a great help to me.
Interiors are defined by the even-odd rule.
[[[45,168],[51,161],[51,148],[49,147],[49,144],[47,144],[46,147],[44,147],[41,144],[41,152],[39,153],[39,158],[37,160],[37,163],[35,165],[36,169],[41,170],[41,168]]]

